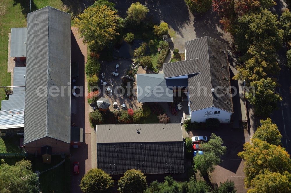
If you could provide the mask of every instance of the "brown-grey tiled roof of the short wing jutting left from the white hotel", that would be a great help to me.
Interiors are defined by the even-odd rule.
[[[191,59],[163,64],[164,78],[179,77],[201,72],[201,59]]]

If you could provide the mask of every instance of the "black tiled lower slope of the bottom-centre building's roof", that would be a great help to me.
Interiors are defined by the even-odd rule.
[[[108,174],[184,173],[184,142],[97,143],[97,167]]]

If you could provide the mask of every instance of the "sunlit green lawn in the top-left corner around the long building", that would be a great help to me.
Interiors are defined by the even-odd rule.
[[[0,1],[0,86],[9,86],[11,84],[11,73],[7,72],[8,33],[11,31],[11,28],[26,27],[29,2],[24,0]],[[31,3],[31,11],[48,5],[65,11],[61,0],[34,0]],[[5,92],[3,89],[0,89],[0,108],[1,100],[4,99]]]

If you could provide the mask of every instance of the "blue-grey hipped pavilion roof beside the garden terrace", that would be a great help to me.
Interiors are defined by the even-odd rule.
[[[163,74],[136,74],[136,82],[139,102],[173,102],[173,90],[167,88]]]

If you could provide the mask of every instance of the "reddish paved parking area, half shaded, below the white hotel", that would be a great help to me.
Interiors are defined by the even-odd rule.
[[[245,193],[244,188],[244,161],[237,156],[238,152],[243,150],[243,144],[249,142],[249,135],[244,129],[221,128],[217,130],[192,130],[189,132],[192,136],[207,136],[209,139],[211,133],[220,136],[223,139],[224,146],[227,147],[226,153],[221,158],[221,164],[216,166],[214,172],[210,174],[212,183],[225,182],[227,179],[235,183],[237,193]],[[200,176],[196,176],[200,178]]]

